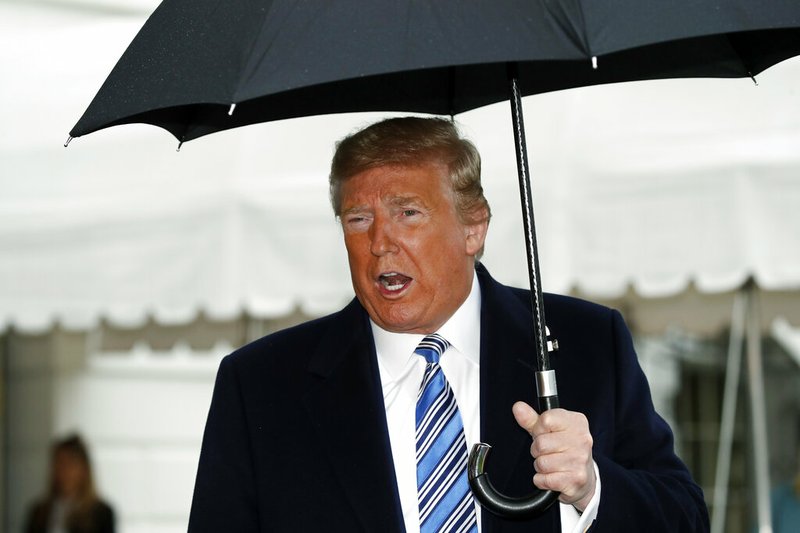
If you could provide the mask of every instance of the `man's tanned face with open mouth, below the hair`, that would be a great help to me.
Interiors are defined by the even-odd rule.
[[[447,168],[434,163],[366,170],[341,198],[353,288],[370,318],[389,331],[435,332],[469,295],[488,222],[460,221]]]

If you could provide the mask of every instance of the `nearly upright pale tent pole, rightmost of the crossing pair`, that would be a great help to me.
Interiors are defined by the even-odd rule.
[[[750,385],[750,419],[753,437],[753,462],[756,481],[758,533],[772,533],[769,502],[769,449],[767,447],[764,374],[761,354],[761,317],[755,298],[755,283],[748,286],[747,372]]]

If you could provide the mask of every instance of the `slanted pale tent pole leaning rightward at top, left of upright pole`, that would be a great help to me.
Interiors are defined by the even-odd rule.
[[[728,362],[725,368],[725,392],[722,403],[722,421],[719,428],[717,469],[714,475],[714,504],[711,533],[724,533],[728,511],[728,483],[731,474],[731,447],[736,424],[736,394],[742,368],[742,343],[747,313],[747,293],[736,293],[731,310],[731,332],[728,339]]]

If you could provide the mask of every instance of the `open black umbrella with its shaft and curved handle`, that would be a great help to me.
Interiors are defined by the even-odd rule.
[[[797,0],[465,2],[165,0],[70,132],[148,123],[180,142],[247,124],[353,111],[454,115],[511,99],[540,408],[558,405],[539,285],[521,97],[601,83],[755,76],[800,54]],[[554,343],[553,343],[554,344]],[[470,456],[488,509],[512,499]]]

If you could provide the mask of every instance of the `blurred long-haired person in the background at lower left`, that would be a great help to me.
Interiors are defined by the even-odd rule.
[[[47,495],[28,514],[25,533],[114,533],[114,510],[94,485],[89,451],[78,435],[56,441]]]

